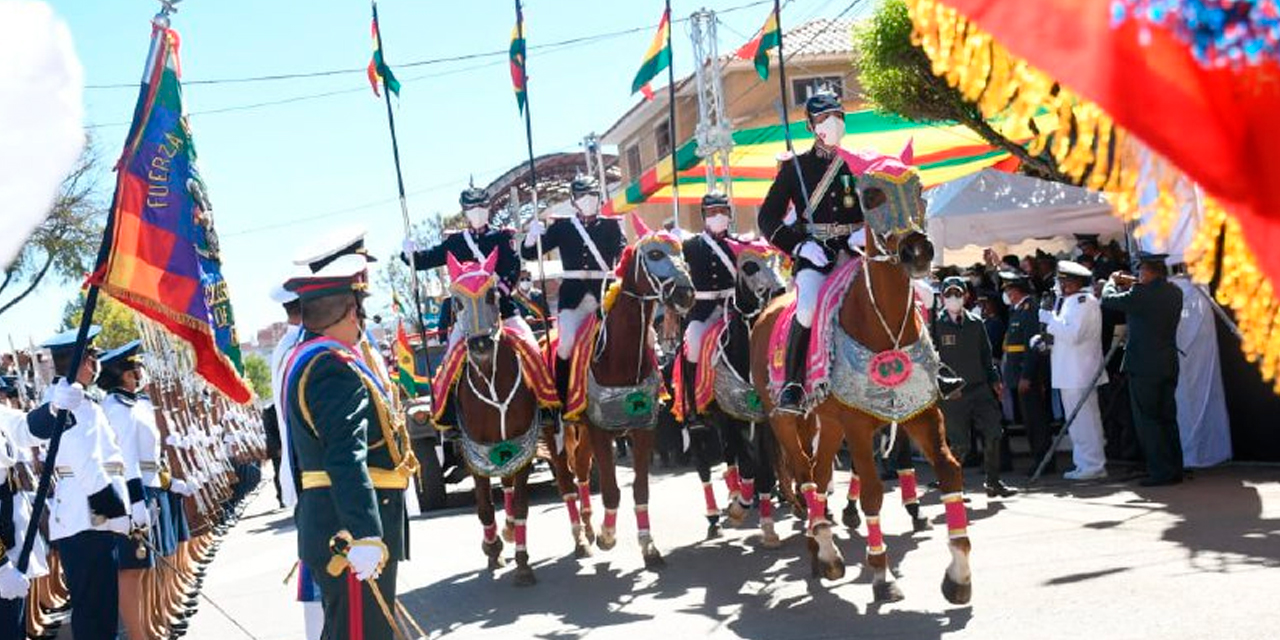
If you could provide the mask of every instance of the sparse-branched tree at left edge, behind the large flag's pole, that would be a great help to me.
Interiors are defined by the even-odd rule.
[[[76,169],[63,180],[49,218],[36,227],[0,278],[0,314],[22,302],[49,275],[65,283],[92,270],[106,223],[106,207],[99,197],[101,169],[93,138],[88,138]]]

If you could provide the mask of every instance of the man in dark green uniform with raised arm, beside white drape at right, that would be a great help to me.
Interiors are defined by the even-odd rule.
[[[1102,288],[1102,307],[1129,317],[1129,344],[1121,371],[1129,374],[1134,429],[1147,457],[1143,486],[1183,481],[1178,434],[1178,321],[1183,292],[1169,282],[1164,253],[1139,253],[1138,279],[1112,274]]]

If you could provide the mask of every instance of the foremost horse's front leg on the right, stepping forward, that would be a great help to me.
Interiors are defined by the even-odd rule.
[[[969,515],[964,506],[964,474],[960,463],[947,447],[942,412],[925,411],[908,422],[906,433],[933,465],[942,490],[942,506],[947,515],[947,532],[951,538],[951,564],[942,576],[942,595],[951,604],[968,604],[973,595],[973,573],[969,568]]]

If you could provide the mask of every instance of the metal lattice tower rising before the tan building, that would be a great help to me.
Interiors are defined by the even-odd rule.
[[[694,44],[694,76],[698,83],[698,157],[707,168],[707,191],[721,191],[733,201],[730,175],[730,152],[733,150],[733,128],[724,115],[724,79],[716,38],[716,12],[699,9],[689,19]],[[675,152],[675,150],[672,150]]]

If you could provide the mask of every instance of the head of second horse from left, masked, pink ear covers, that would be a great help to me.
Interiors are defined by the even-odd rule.
[[[666,230],[649,230],[631,215],[636,243],[620,262],[623,292],[640,300],[658,300],[685,315],[694,307],[694,282],[685,266],[680,239]]]

